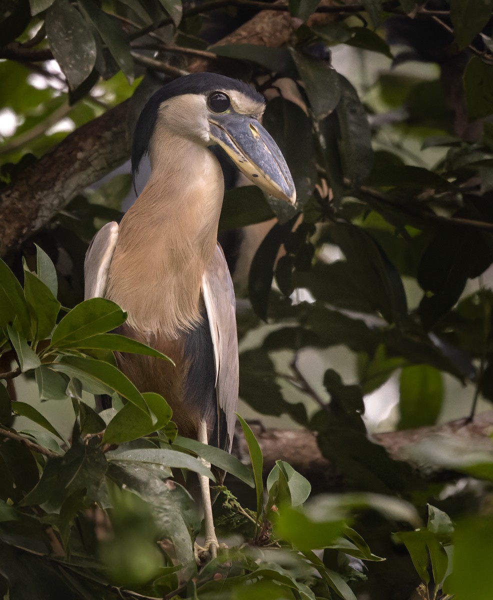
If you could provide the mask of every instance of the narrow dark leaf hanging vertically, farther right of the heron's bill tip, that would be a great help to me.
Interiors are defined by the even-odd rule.
[[[368,178],[373,166],[371,130],[356,90],[345,77],[340,75],[339,80],[341,100],[337,106],[337,118],[341,132],[342,169],[351,185],[357,188]]]

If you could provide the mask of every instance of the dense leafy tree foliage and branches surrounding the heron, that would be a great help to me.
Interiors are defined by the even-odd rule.
[[[476,415],[493,400],[492,11],[2,2],[1,598],[493,597],[492,421]],[[291,210],[224,164],[240,396],[298,427],[252,425],[257,441],[241,420],[232,456],[179,436],[113,352],[166,357],[111,333],[117,305],[82,302],[89,241],[131,202],[143,103],[198,71],[265,95],[297,190]],[[375,434],[371,394],[393,433]],[[229,473],[229,550],[202,568],[178,482],[212,478],[197,457]]]

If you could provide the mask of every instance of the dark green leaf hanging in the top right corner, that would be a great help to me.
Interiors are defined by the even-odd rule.
[[[459,50],[464,50],[487,25],[492,9],[491,0],[450,0],[450,20]]]

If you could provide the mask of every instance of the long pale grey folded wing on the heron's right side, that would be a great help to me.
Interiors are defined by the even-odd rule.
[[[220,428],[222,423],[226,425],[226,431],[218,431],[218,437],[227,437],[221,447],[229,452],[235,434],[238,404],[238,336],[235,291],[220,245],[216,246],[214,257],[202,276],[202,292],[214,346],[217,426]]]

